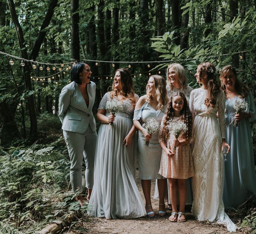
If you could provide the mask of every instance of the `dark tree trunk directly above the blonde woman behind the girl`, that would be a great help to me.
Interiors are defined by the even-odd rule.
[[[176,29],[174,33],[174,43],[176,45],[180,44],[180,0],[173,0],[171,2],[171,21],[173,30]]]

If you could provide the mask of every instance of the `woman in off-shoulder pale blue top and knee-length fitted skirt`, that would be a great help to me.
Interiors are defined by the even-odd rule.
[[[158,172],[161,163],[162,148],[158,142],[159,131],[149,135],[142,127],[143,123],[150,119],[156,119],[159,124],[166,111],[167,91],[166,81],[162,76],[153,75],[149,77],[146,86],[147,94],[140,97],[135,106],[133,122],[139,129],[138,137],[138,158],[139,158],[139,178],[141,179],[142,190],[146,200],[146,212],[149,217],[154,217],[155,213],[151,205],[151,180],[157,179],[159,190],[159,216],[166,215],[164,196],[166,189],[166,179]],[[145,141],[149,140],[149,145]]]

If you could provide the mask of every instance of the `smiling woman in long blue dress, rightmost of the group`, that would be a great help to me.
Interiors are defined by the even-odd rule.
[[[254,152],[250,121],[255,120],[256,110],[251,91],[237,79],[236,70],[230,65],[221,70],[221,87],[226,96],[226,141],[230,145],[224,163],[225,178],[223,202],[225,208],[237,208],[256,193],[256,174],[254,167]],[[235,114],[236,99],[245,99],[247,109]],[[232,119],[235,117],[238,126],[234,127]]]

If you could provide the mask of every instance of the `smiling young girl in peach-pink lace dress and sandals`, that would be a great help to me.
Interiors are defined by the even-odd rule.
[[[168,121],[181,121],[188,130],[181,133],[178,139],[167,128]],[[163,149],[159,174],[169,180],[171,206],[173,212],[169,217],[171,222],[186,221],[185,203],[187,197],[186,179],[194,175],[194,165],[189,143],[192,138],[192,115],[186,96],[182,92],[175,92],[169,102],[166,115],[162,119],[159,132],[159,142]],[[176,150],[174,150],[176,147]],[[180,208],[177,209],[177,190]]]

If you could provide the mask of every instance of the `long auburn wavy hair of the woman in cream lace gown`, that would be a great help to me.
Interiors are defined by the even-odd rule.
[[[207,75],[207,93],[206,99],[204,99],[204,104],[208,107],[214,108],[216,105],[216,94],[220,91],[220,84],[216,79],[216,68],[210,62],[201,63],[197,67],[197,72],[199,74],[199,80],[203,75]]]

